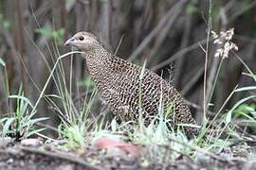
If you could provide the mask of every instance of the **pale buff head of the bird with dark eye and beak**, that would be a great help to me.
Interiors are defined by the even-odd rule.
[[[82,51],[93,50],[101,46],[97,37],[89,32],[78,32],[72,38],[64,42],[64,45],[76,46]]]

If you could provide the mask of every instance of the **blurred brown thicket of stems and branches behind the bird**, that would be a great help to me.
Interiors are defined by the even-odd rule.
[[[212,3],[212,29],[218,33],[234,27],[237,54],[255,73],[256,1]],[[201,120],[205,53],[200,46],[206,47],[208,16],[207,0],[0,0],[0,58],[6,63],[6,67],[0,66],[0,114],[13,110],[7,100],[5,69],[9,93],[18,93],[23,84],[25,95],[35,103],[39,96],[35,84],[42,90],[49,76],[46,60],[52,67],[59,54],[70,51],[64,41],[77,31],[86,30],[96,34],[109,51],[117,52],[122,59],[140,65],[147,60],[147,68],[171,79],[178,91],[196,106],[192,112]],[[208,88],[220,61],[213,57],[215,52],[215,45],[210,42]],[[78,91],[82,93],[88,88],[89,76],[84,59],[74,58],[72,67],[70,63],[70,58],[64,59],[64,76],[68,79],[72,69],[76,98]],[[253,83],[242,75],[244,71],[232,54],[224,60],[211,113],[221,107],[237,84]],[[55,92],[56,85],[51,81],[46,93]],[[227,109],[245,95],[234,95]],[[39,116],[52,116],[52,112],[46,102],[40,103]],[[50,121],[54,124],[55,119]]]

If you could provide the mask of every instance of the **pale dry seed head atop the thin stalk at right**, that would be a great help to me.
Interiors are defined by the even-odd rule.
[[[226,32],[221,31],[220,35],[218,35],[213,30],[210,31],[211,36],[213,38],[213,43],[218,44],[214,57],[228,58],[230,50],[238,50],[237,45],[234,42],[230,42],[234,35],[234,28],[230,28]]]

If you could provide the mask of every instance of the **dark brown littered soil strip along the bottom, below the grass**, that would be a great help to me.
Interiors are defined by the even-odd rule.
[[[252,151],[251,148],[250,151]],[[56,144],[0,143],[0,169],[2,170],[83,170],[83,169],[256,169],[256,157],[250,151],[235,153],[222,151],[221,154],[199,154],[195,161],[180,155],[175,161],[157,163],[154,160],[141,161],[119,149],[109,154],[86,146],[81,153],[64,151]],[[113,154],[115,153],[115,154]],[[118,154],[117,154],[118,153]],[[217,156],[217,157],[216,157]],[[222,159],[229,158],[229,159]],[[250,159],[248,159],[250,158]]]

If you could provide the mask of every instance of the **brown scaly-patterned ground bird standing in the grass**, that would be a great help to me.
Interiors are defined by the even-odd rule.
[[[174,127],[196,125],[191,110],[171,82],[145,67],[111,54],[94,34],[78,32],[64,45],[75,46],[86,54],[87,70],[101,98],[120,121],[137,121],[141,115],[144,124],[149,125],[162,111]],[[198,132],[194,126],[184,129],[189,135]]]

